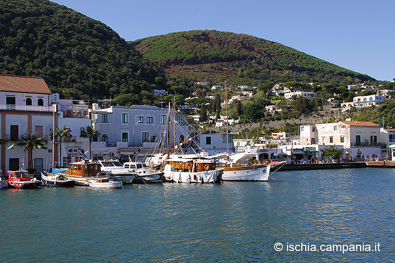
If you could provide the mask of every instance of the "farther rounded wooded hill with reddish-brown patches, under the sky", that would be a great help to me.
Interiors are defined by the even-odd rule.
[[[197,30],[129,42],[173,76],[233,84],[262,81],[362,83],[362,75],[282,44],[243,34]]]

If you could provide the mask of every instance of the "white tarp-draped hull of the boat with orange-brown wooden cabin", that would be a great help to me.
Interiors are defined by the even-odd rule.
[[[171,165],[164,167],[164,179],[175,183],[214,183],[221,175],[222,169],[204,172],[178,172],[171,171]]]

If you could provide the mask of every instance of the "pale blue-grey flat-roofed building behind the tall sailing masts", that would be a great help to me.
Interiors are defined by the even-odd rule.
[[[175,117],[177,125],[172,122],[173,124],[167,127],[168,113],[171,115],[170,118]],[[118,150],[114,157],[118,158],[133,156],[133,153],[136,153],[137,160],[144,160],[147,154],[159,150],[159,141],[163,143],[163,147],[166,147],[167,143],[169,147],[174,147],[174,144],[186,140],[189,134],[186,116],[172,109],[169,111],[155,106],[93,108],[92,122],[101,133],[98,142],[104,142],[107,147],[116,147]],[[171,138],[170,142],[167,142],[167,137]],[[96,159],[102,157],[93,155]]]

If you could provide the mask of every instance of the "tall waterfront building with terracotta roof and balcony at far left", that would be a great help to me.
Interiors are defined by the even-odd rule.
[[[40,77],[0,75],[0,134],[1,139],[8,141],[1,145],[3,173],[33,167],[40,172],[52,165],[49,131],[53,127],[54,119],[57,125],[58,114],[54,114],[50,97],[51,92]],[[39,138],[48,142],[47,150],[35,149],[31,154],[30,150],[15,145],[22,142],[21,136],[36,132]]]

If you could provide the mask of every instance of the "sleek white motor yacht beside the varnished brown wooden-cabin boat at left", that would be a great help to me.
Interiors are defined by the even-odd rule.
[[[101,174],[114,176],[115,181],[131,184],[136,177],[136,173],[129,171],[117,160],[99,161]]]

